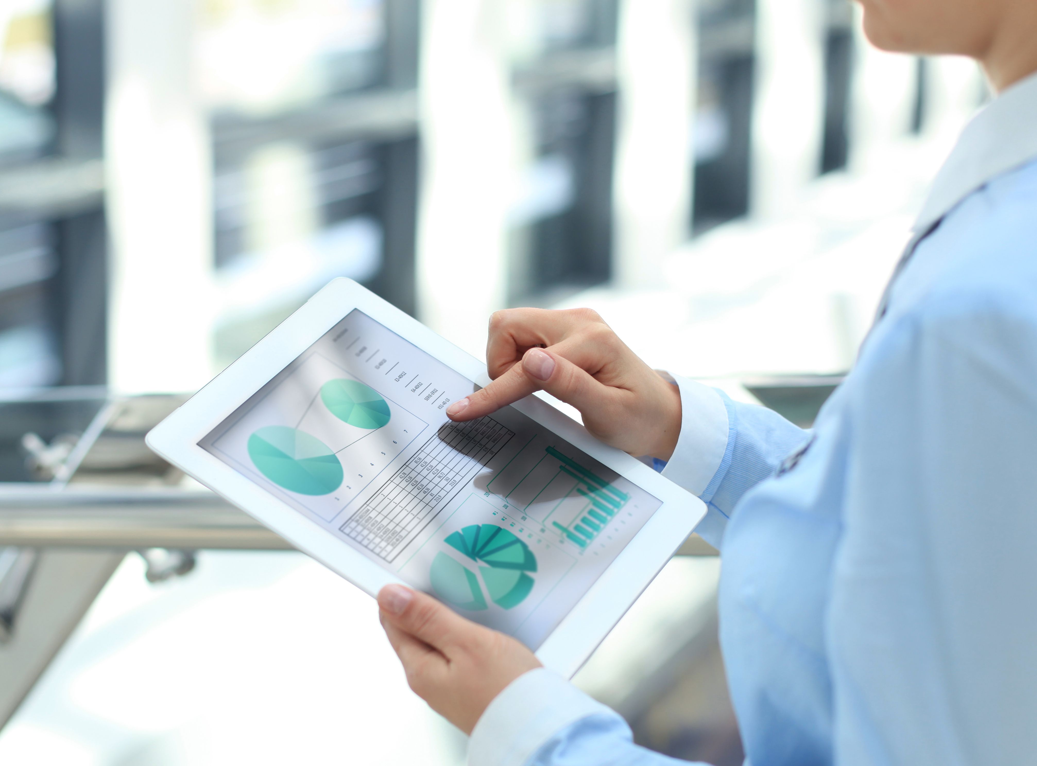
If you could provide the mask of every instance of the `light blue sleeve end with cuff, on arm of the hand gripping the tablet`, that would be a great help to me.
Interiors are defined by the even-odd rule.
[[[634,744],[629,727],[561,676],[539,668],[489,703],[469,766],[689,766]]]

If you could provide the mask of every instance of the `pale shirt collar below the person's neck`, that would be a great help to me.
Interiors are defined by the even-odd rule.
[[[976,115],[936,175],[916,234],[1002,173],[1037,157],[1037,73],[1006,89]]]

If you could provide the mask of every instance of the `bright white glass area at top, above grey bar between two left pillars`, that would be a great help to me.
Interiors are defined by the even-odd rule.
[[[215,110],[270,114],[374,84],[384,0],[201,0],[197,57]]]

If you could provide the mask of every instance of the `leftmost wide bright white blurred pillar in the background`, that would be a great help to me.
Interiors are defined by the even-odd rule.
[[[194,390],[213,373],[211,141],[193,12],[184,0],[107,8],[108,374],[119,391]]]

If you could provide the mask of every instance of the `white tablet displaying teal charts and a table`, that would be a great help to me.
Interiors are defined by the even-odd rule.
[[[454,423],[485,364],[335,279],[147,436],[374,595],[402,582],[570,676],[705,513],[529,396]]]

